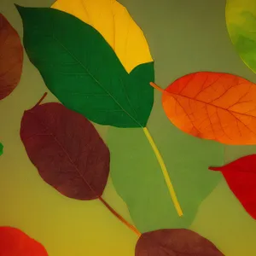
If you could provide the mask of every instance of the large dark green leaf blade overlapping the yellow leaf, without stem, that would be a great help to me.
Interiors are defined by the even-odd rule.
[[[24,46],[49,90],[100,125],[144,127],[153,107],[154,62],[127,73],[92,26],[56,9],[17,6]]]

